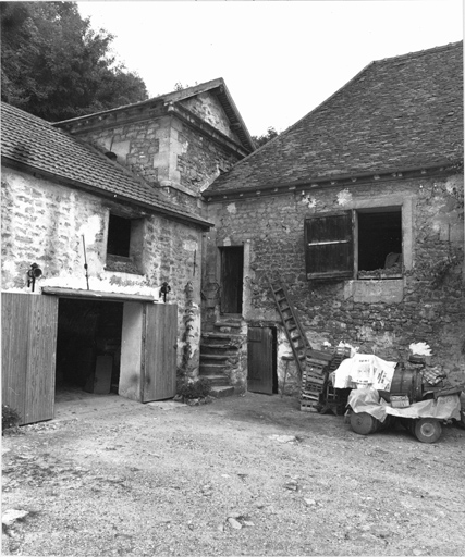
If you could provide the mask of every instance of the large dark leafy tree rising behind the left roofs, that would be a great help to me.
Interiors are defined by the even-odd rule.
[[[48,121],[147,99],[75,2],[1,2],[1,98]]]

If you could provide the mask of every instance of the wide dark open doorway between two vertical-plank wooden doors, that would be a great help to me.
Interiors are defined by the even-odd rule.
[[[61,298],[56,392],[118,393],[123,304]]]

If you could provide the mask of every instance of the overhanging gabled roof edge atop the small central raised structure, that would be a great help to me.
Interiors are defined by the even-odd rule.
[[[231,97],[230,91],[228,90],[227,84],[222,77],[218,77],[217,79],[211,79],[210,82],[201,83],[198,85],[194,85],[193,87],[186,87],[185,89],[180,89],[172,92],[167,92],[163,95],[158,95],[157,97],[152,97],[151,99],[144,100],[140,102],[135,102],[133,104],[126,104],[123,107],[117,107],[114,109],[105,110],[101,112],[95,112],[93,114],[88,114],[85,116],[73,117],[70,120],[63,120],[61,122],[53,123],[54,126],[62,127],[69,124],[74,124],[82,121],[88,121],[93,117],[101,119],[102,116],[108,116],[110,114],[114,114],[121,111],[129,110],[142,110],[146,107],[160,104],[170,106],[176,102],[186,100],[191,97],[195,97],[203,92],[211,92],[215,95],[222,109],[224,110],[228,120],[230,121],[230,125],[238,139],[241,140],[242,147],[246,149],[246,152],[250,152],[255,150],[255,144],[252,139],[250,134],[248,133],[247,126],[245,125],[244,120],[242,119],[237,107],[234,103],[233,98]]]

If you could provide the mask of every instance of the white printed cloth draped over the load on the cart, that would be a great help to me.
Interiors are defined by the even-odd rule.
[[[390,391],[395,361],[386,361],[370,354],[356,354],[342,361],[333,372],[334,388],[374,387]]]

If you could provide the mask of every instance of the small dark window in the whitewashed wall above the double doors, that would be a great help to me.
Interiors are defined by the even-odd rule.
[[[108,220],[108,271],[143,273],[144,219],[110,213]]]

